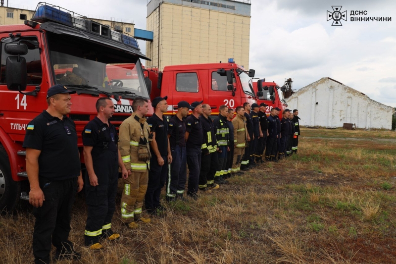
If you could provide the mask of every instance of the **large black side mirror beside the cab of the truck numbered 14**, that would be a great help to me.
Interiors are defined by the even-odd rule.
[[[5,62],[7,88],[11,91],[26,90],[26,59],[24,57],[19,57],[18,59],[18,57],[19,56],[8,56]]]

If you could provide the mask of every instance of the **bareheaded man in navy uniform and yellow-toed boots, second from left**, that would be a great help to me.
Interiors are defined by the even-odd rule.
[[[126,179],[128,172],[118,151],[117,131],[108,121],[115,112],[110,98],[99,98],[96,103],[98,116],[84,128],[85,195],[88,208],[85,226],[85,245],[100,249],[99,237],[114,240],[120,237],[111,230],[111,218],[115,211],[118,185],[118,167]]]

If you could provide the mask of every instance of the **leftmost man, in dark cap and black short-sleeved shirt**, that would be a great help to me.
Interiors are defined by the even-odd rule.
[[[70,212],[77,192],[83,189],[81,163],[69,91],[55,85],[47,92],[48,108],[29,122],[23,147],[29,178],[29,203],[36,217],[33,230],[34,263],[50,263],[51,242],[55,259],[80,259],[68,240]]]

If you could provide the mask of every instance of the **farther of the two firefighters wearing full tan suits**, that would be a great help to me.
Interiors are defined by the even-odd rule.
[[[232,119],[232,124],[234,126],[234,157],[231,172],[233,175],[243,175],[244,172],[241,171],[241,161],[244,157],[245,151],[247,150],[247,141],[250,139],[247,138],[248,134],[244,108],[242,106],[237,106],[236,112],[237,115]]]

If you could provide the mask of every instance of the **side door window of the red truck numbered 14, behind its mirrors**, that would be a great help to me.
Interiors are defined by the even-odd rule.
[[[32,40],[37,41],[36,37],[24,37],[21,40]],[[4,52],[4,43],[1,43],[1,68],[0,68],[0,83],[7,83],[6,80],[6,61],[9,54]],[[26,60],[26,68],[27,68],[27,85],[39,85],[41,84],[43,70],[40,58],[39,49],[32,49],[29,47],[28,53],[26,55],[21,55]]]

